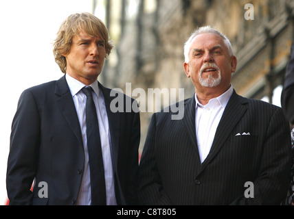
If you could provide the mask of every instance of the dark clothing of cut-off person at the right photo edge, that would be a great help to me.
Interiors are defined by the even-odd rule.
[[[281,103],[289,122],[294,125],[294,43],[291,47],[291,57],[286,67]]]

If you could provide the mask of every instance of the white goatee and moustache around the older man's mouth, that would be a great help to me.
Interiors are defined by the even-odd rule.
[[[208,75],[207,79],[203,79],[202,77],[203,70],[204,68],[207,68],[207,67],[216,68],[216,71],[218,72],[218,77],[214,78],[212,77],[212,75]],[[214,63],[203,64],[203,66],[199,70],[199,83],[201,84],[201,86],[206,88],[213,88],[215,86],[218,86],[220,82],[221,82],[220,68],[218,68],[218,66]]]

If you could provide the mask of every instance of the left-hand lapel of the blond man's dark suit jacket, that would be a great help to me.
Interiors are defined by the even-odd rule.
[[[69,127],[74,132],[76,138],[82,144],[82,133],[80,131],[80,123],[78,121],[78,115],[76,114],[76,107],[74,105],[74,101],[71,96],[71,92],[69,90],[69,86],[67,85],[67,81],[64,77],[61,77],[58,81],[56,81],[55,94],[58,95],[57,105],[62,112],[63,116],[65,116],[65,120],[69,124]]]

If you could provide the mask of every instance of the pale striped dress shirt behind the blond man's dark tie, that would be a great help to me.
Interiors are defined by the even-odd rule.
[[[86,101],[87,96],[82,92],[84,84],[74,79],[69,75],[65,75],[69,90],[74,100],[78,120],[80,122],[80,130],[82,132],[82,141],[84,144],[84,173],[82,176],[82,183],[78,194],[77,205],[91,205],[91,183],[90,183],[90,168],[89,168],[89,154],[87,147],[87,127],[86,127]],[[98,87],[98,82],[92,83],[93,101],[95,103],[96,112],[98,116],[100,139],[102,146],[102,157],[104,164],[104,175],[106,185],[106,205],[117,205],[115,199],[115,188],[113,178],[113,166],[111,159],[111,135],[109,131],[109,120],[106,112],[104,96]]]

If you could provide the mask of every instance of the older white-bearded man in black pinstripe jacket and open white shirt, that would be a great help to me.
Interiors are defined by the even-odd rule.
[[[278,205],[291,168],[289,124],[280,107],[231,85],[237,59],[225,35],[196,29],[183,67],[195,94],[152,115],[139,165],[142,205]],[[250,188],[248,188],[250,186]]]

